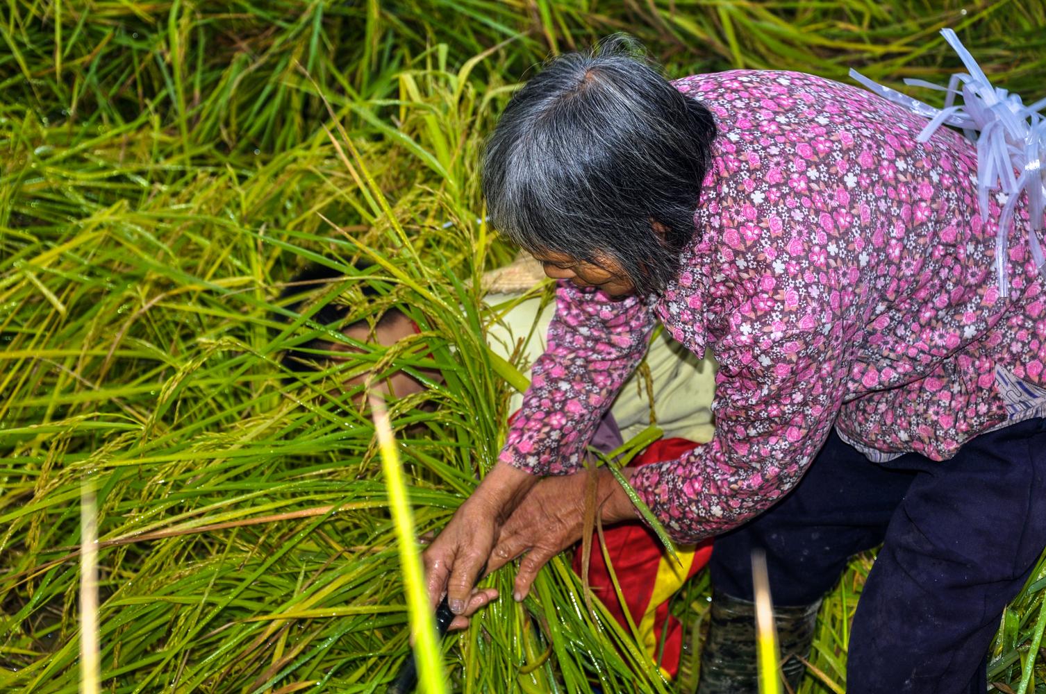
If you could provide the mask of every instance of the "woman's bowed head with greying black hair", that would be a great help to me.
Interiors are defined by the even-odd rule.
[[[513,97],[483,162],[495,227],[609,294],[676,276],[715,137],[708,109],[637,53],[614,37],[552,60]]]

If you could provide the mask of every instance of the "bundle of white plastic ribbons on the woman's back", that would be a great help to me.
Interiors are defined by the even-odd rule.
[[[970,72],[952,75],[948,87],[922,79],[905,79],[905,84],[948,92],[942,109],[935,109],[889,87],[883,87],[857,70],[850,70],[849,74],[880,96],[929,118],[930,122],[916,138],[919,142],[926,142],[938,128],[948,124],[961,128],[967,137],[977,144],[977,192],[981,218],[987,219],[988,193],[992,190],[1001,190],[1006,195],[995,239],[999,293],[1005,298],[1009,296],[1009,279],[1006,276],[1007,236],[1017,201],[1024,191],[1028,193],[1031,215],[1031,227],[1028,230],[1031,257],[1039,272],[1046,277],[1046,257],[1043,256],[1038,235],[1043,228],[1043,207],[1046,203],[1046,166],[1041,162],[1041,158],[1046,157],[1046,120],[1040,113],[1046,108],[1046,98],[1024,106],[1017,94],[993,87],[977,61],[959,42],[955,31],[941,29],[940,33],[959,54]],[[961,90],[958,89],[960,83]],[[956,96],[962,97],[961,106],[954,105]],[[1015,169],[1019,175],[1015,175]]]

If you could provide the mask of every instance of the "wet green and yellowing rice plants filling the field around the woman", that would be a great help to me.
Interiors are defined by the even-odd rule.
[[[478,279],[514,249],[477,222],[477,161],[535,63],[624,29],[672,74],[859,67],[896,85],[956,67],[936,38],[951,25],[1000,84],[1038,96],[1044,14],[1030,0],[5,3],[0,690],[81,687],[84,487],[100,691],[372,692],[393,676],[409,648],[403,538],[369,412],[341,385],[442,373],[388,407],[416,532],[438,529],[493,464],[508,384],[525,380],[485,347],[496,311]],[[278,297],[308,262],[344,279],[295,313]],[[422,333],[354,343],[312,320],[328,301],[369,321],[399,306]],[[360,351],[311,374],[280,366],[317,336]],[[825,601],[803,692],[843,691],[869,566],[857,559]],[[1044,576],[1004,616],[1000,691],[1046,676]],[[510,571],[485,581],[510,593]],[[695,648],[707,586],[674,604]],[[688,691],[692,664],[664,683],[583,595],[560,558],[525,603],[487,607],[442,645],[450,688]]]

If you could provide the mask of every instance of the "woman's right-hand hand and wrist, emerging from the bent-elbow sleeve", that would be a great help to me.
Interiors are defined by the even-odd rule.
[[[630,469],[623,472],[628,478]],[[588,478],[584,470],[574,475],[545,478],[530,490],[501,528],[487,571],[495,571],[524,554],[513,597],[523,600],[538,572],[548,560],[582,538]],[[595,504],[604,524],[638,517],[621,485],[606,468],[596,475]]]

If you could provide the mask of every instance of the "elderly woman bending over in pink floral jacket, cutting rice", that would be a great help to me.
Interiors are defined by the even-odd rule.
[[[583,443],[660,321],[720,365],[714,437],[624,473],[676,538],[722,534],[718,595],[751,597],[758,547],[776,603],[816,603],[882,542],[848,691],[983,692],[1046,543],[1046,283],[1027,201],[997,241],[976,146],[925,125],[805,74],[668,83],[614,47],[531,78],[484,189],[558,313],[500,462],[425,553],[433,599],[469,614],[483,563],[522,556],[520,600],[579,538]],[[606,470],[598,503],[638,515]]]

